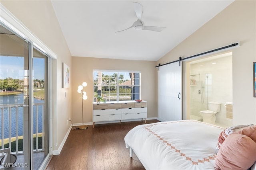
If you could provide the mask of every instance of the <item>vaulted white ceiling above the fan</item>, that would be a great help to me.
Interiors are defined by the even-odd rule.
[[[132,2],[143,6],[145,25],[162,32],[135,30]],[[52,0],[60,27],[76,57],[157,61],[233,0]]]

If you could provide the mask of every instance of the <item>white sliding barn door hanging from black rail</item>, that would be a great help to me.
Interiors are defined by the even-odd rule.
[[[182,61],[159,67],[158,119],[182,120]]]

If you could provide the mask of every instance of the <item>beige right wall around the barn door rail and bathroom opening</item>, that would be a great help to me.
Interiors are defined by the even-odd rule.
[[[240,41],[233,51],[233,125],[256,123],[252,62],[256,61],[256,1],[236,0],[195,33],[172,49],[158,63],[164,64]],[[186,63],[186,61],[185,61]],[[183,64],[186,66],[186,64]],[[183,68],[186,82],[186,67]],[[186,86],[183,86],[186,117]]]

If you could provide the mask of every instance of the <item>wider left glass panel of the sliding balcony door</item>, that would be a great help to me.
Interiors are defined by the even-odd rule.
[[[16,164],[28,168],[28,42],[0,25],[0,149],[10,148]]]

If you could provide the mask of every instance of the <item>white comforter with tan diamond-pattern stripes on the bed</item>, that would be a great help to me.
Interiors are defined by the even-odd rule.
[[[214,170],[223,128],[195,120],[138,125],[124,137],[148,170]]]

